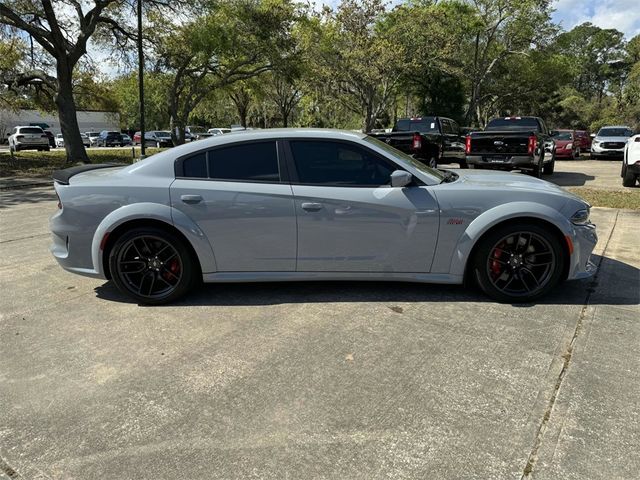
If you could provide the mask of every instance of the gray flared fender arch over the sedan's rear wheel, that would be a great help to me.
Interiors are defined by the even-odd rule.
[[[158,220],[174,226],[191,243],[198,256],[202,273],[216,271],[216,262],[211,244],[202,230],[189,217],[168,205],[145,202],[120,207],[104,217],[100,225],[98,225],[91,243],[91,260],[93,268],[101,277],[105,276],[103,251],[100,248],[102,239],[107,233],[132,220]]]

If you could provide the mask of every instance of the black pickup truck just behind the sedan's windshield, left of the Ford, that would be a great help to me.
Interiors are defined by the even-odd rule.
[[[401,118],[391,133],[369,133],[398,150],[412,155],[429,167],[439,163],[458,163],[467,168],[464,136],[460,127],[450,118]]]

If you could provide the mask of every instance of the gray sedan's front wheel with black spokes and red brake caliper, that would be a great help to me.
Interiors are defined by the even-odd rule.
[[[474,277],[489,297],[505,303],[530,302],[558,284],[564,251],[549,229],[514,222],[482,237],[471,261]]]

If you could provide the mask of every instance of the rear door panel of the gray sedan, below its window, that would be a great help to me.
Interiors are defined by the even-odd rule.
[[[295,271],[290,185],[178,178],[171,185],[171,205],[207,236],[218,271]]]

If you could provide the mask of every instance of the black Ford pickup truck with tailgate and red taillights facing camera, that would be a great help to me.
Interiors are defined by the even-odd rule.
[[[555,143],[538,117],[494,118],[484,131],[467,135],[465,152],[474,168],[529,170],[538,178],[555,166]]]

